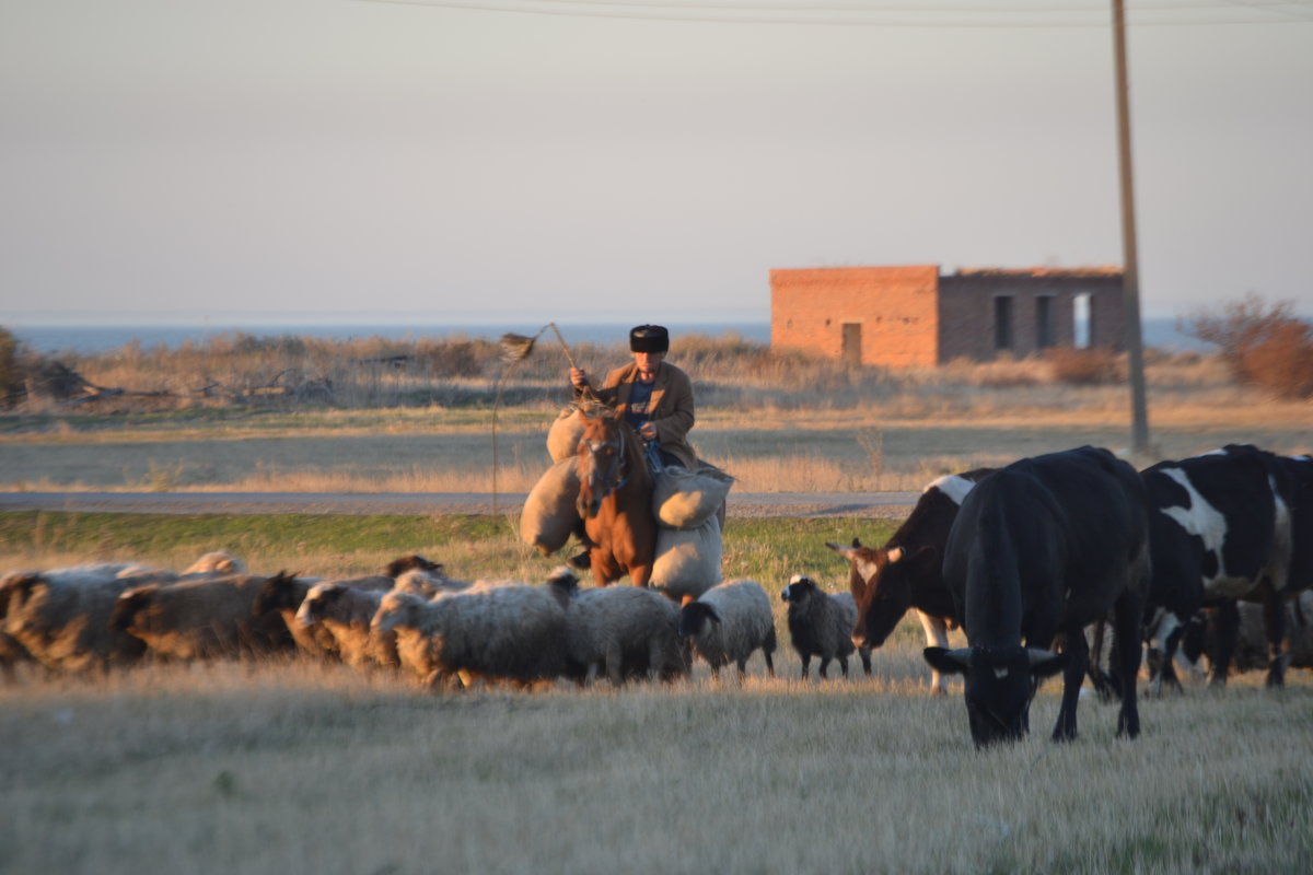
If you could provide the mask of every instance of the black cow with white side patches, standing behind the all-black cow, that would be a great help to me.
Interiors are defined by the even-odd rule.
[[[1157,689],[1180,686],[1173,656],[1186,624],[1201,607],[1216,610],[1211,682],[1226,682],[1236,647],[1236,600],[1264,605],[1271,644],[1267,682],[1279,686],[1287,661],[1280,602],[1288,594],[1293,554],[1295,481],[1285,460],[1254,446],[1228,445],[1159,462],[1140,476],[1150,504],[1153,582],[1146,638]]]

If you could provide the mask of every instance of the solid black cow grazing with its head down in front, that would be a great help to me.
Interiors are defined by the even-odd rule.
[[[1088,647],[1109,611],[1121,682],[1117,735],[1136,737],[1140,624],[1149,582],[1144,481],[1108,450],[1083,446],[1022,459],[981,480],[948,534],[944,582],[968,647],[927,647],[926,661],[965,677],[977,748],[1029,729],[1039,682],[1064,674],[1054,741],[1077,735]],[[1062,652],[1050,648],[1061,640]]]

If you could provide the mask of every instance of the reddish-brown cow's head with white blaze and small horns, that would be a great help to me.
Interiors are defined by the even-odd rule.
[[[848,588],[857,602],[857,624],[852,630],[856,647],[880,647],[911,607],[911,582],[934,575],[939,552],[932,547],[909,551],[902,547],[863,547],[856,538],[851,547],[826,543],[847,559]]]

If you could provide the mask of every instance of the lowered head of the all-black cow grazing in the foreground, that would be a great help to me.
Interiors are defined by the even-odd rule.
[[[1066,665],[1065,653],[1024,647],[927,647],[924,655],[941,674],[964,677],[966,716],[977,748],[1025,735],[1036,687]]]

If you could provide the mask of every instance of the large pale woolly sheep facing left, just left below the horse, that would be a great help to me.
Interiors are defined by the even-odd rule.
[[[566,610],[553,586],[471,586],[424,601],[389,592],[372,622],[397,631],[402,665],[428,686],[456,676],[528,685],[558,677],[565,668]]]

